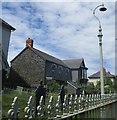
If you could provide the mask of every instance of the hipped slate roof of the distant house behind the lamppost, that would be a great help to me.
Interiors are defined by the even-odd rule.
[[[112,75],[110,72],[106,72],[105,69],[103,69],[103,75],[104,75],[104,77],[109,77],[109,78],[114,78],[114,77],[115,77],[115,76]],[[90,75],[89,78],[90,78],[90,79],[91,79],[91,78],[92,78],[92,79],[93,79],[93,78],[100,78],[100,71],[98,71],[98,72]]]

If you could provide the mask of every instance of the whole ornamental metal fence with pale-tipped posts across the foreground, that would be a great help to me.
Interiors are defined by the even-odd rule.
[[[41,119],[45,117],[51,120],[81,119],[81,118],[115,118],[117,119],[117,94],[90,94],[90,95],[65,95],[64,103],[61,105],[60,96],[57,103],[54,104],[54,97],[51,96],[47,106],[44,105],[43,96],[37,107],[37,116],[35,116],[32,96],[30,96],[27,106],[24,108],[27,119]],[[62,107],[63,106],[63,107]],[[46,112],[45,112],[46,111]],[[20,118],[20,107],[18,97],[14,97],[11,108],[8,110],[8,119],[16,120]]]

